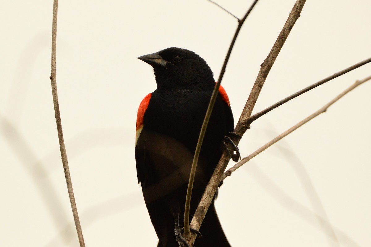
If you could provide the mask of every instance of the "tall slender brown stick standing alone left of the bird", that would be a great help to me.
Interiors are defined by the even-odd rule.
[[[57,43],[57,14],[58,14],[58,0],[54,0],[53,4],[53,27],[52,27],[52,73],[50,75],[50,81],[52,83],[52,94],[54,103],[55,120],[57,123],[58,139],[60,155],[62,156],[63,170],[65,171],[65,178],[67,183],[68,195],[70,198],[73,218],[75,220],[77,235],[79,238],[80,246],[85,247],[84,238],[82,235],[79,215],[76,208],[75,196],[73,195],[72,181],[68,168],[67,153],[65,142],[62,133],[62,123],[60,121],[58,93],[57,93],[57,78],[56,78],[56,43]]]

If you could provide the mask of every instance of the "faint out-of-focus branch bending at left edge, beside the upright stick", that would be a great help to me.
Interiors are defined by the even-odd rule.
[[[17,61],[16,71],[11,83],[4,115],[0,115],[0,131],[4,140],[14,153],[14,157],[19,160],[20,166],[27,172],[33,184],[39,192],[40,199],[49,212],[51,220],[58,229],[60,225],[66,223],[68,218],[55,186],[49,178],[50,166],[43,166],[37,161],[37,152],[33,149],[32,142],[28,141],[21,133],[19,121],[26,103],[26,95],[29,91],[29,78],[32,75],[33,67],[37,56],[48,45],[46,42],[46,32],[37,33],[27,42],[22,49],[22,53]],[[49,36],[49,35],[48,35]],[[49,163],[50,164],[50,163]],[[67,244],[68,232],[61,235],[60,239]]]

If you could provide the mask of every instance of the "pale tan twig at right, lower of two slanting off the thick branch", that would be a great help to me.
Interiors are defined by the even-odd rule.
[[[224,178],[226,178],[227,176],[230,176],[232,174],[232,172],[234,172],[237,168],[240,168],[244,163],[246,163],[247,161],[249,161],[250,159],[252,159],[253,157],[255,157],[256,155],[258,155],[259,153],[261,153],[263,150],[267,149],[268,147],[272,146],[274,143],[278,142],[279,140],[281,140],[283,137],[287,136],[288,134],[290,134],[292,131],[298,129],[299,127],[301,127],[303,124],[307,123],[309,120],[312,120],[313,118],[315,118],[316,116],[318,116],[319,114],[321,113],[324,113],[328,107],[330,107],[332,104],[334,104],[336,101],[338,101],[341,97],[343,97],[345,94],[347,94],[348,92],[352,91],[354,88],[358,87],[359,85],[361,85],[362,83],[368,81],[371,79],[371,76],[365,78],[365,79],[362,79],[361,81],[356,81],[353,85],[351,85],[350,87],[348,87],[346,90],[344,90],[343,92],[341,92],[341,94],[339,94],[338,96],[336,96],[333,100],[331,100],[329,103],[327,103],[326,105],[324,105],[323,107],[321,107],[318,111],[316,111],[315,113],[311,114],[310,116],[304,118],[302,121],[300,121],[299,123],[295,124],[294,126],[292,126],[290,129],[286,130],[285,132],[283,132],[282,134],[280,134],[279,136],[277,136],[276,138],[274,138],[273,140],[271,140],[270,142],[266,143],[264,146],[260,147],[259,149],[257,149],[255,152],[253,152],[252,154],[250,154],[249,156],[247,157],[244,157],[240,162],[238,162],[236,165],[234,165],[232,168],[228,169],[226,172],[224,172],[221,180],[223,180]]]

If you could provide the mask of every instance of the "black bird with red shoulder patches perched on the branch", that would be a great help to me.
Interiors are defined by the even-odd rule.
[[[135,159],[138,183],[159,238],[158,247],[185,246],[174,234],[184,218],[185,196],[198,135],[211,93],[213,72],[196,53],[167,48],[140,56],[154,69],[157,89],[138,109]],[[233,115],[220,86],[198,160],[191,197],[192,216],[222,154],[221,143],[233,131]],[[183,224],[181,224],[183,225]],[[197,247],[230,246],[217,217],[214,201],[200,228]]]

